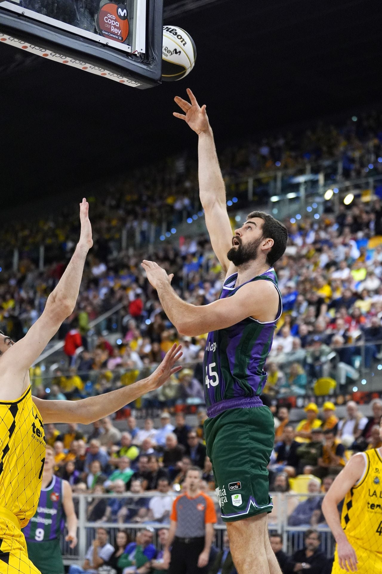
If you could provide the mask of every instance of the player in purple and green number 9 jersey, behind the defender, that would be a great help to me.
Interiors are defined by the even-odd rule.
[[[53,469],[54,449],[48,444],[42,472],[40,501],[36,513],[22,530],[29,559],[41,574],[65,574],[60,548],[65,518],[68,528],[65,540],[70,542],[70,548],[77,545],[78,521],[74,511],[72,488],[67,480],[55,476]]]

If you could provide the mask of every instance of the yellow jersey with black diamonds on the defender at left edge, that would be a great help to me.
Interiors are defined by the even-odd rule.
[[[0,507],[26,526],[40,498],[45,433],[29,388],[16,401],[0,402]]]

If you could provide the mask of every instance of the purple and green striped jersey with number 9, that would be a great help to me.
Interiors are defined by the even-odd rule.
[[[56,540],[64,532],[65,514],[62,507],[64,482],[53,475],[47,488],[41,488],[36,513],[22,532],[27,542]]]

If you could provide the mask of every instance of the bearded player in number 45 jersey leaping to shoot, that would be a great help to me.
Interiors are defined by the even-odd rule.
[[[212,247],[225,273],[218,301],[196,307],[171,288],[171,276],[152,261],[143,267],[164,311],[180,333],[208,334],[204,387],[208,418],[204,422],[207,455],[212,462],[222,518],[239,574],[281,572],[269,544],[267,464],[274,441],[274,421],[259,395],[281,295],[272,267],[285,251],[286,227],[270,215],[252,212],[232,236],[226,193],[206,114],[192,92],[190,102],[175,98],[199,135],[200,200]]]

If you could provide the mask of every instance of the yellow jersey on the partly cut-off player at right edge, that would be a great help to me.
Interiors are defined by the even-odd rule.
[[[341,526],[361,548],[369,552],[382,549],[382,458],[377,449],[362,453],[365,471],[346,494]]]

